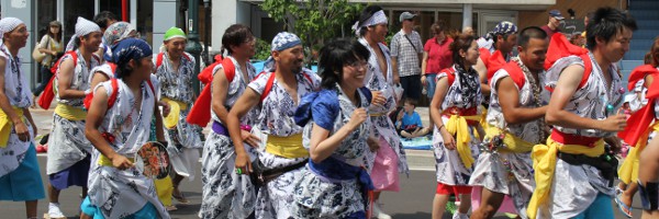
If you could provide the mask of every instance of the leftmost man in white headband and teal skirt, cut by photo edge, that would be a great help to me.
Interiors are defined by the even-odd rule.
[[[21,70],[18,57],[27,36],[21,20],[0,20],[0,200],[24,200],[31,219],[36,218],[37,200],[44,198],[44,189],[34,149],[36,126],[29,110],[29,72]]]

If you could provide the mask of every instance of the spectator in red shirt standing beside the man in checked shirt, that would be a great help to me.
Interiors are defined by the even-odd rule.
[[[450,43],[453,38],[445,34],[446,23],[438,21],[431,25],[433,38],[428,39],[423,47],[423,62],[421,64],[421,83],[426,87],[428,100],[435,95],[436,76],[453,64]]]

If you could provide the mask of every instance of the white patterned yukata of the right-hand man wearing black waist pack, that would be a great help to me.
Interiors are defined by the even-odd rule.
[[[565,110],[581,117],[601,120],[606,118],[606,105],[619,106],[624,90],[615,65],[611,65],[608,72],[602,72],[592,53],[589,51],[589,56],[592,62],[592,72],[587,83],[570,97]],[[577,56],[557,60],[547,71],[546,85],[556,88],[562,70],[571,65],[584,66],[583,60]],[[604,73],[611,74],[611,88],[606,88]],[[554,128],[565,134],[595,138],[615,135],[615,132],[601,129],[574,129],[558,125],[555,125]],[[591,206],[599,193],[614,195],[615,192],[612,186],[608,186],[608,180],[602,177],[600,170],[594,166],[571,165],[557,159],[548,208],[540,208],[537,218],[576,217]]]

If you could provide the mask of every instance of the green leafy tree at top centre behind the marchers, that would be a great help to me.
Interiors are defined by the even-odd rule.
[[[346,27],[349,30],[362,7],[348,0],[265,0],[260,4],[270,18],[283,22],[284,30],[300,36],[308,51],[325,39],[340,36]],[[305,62],[310,60],[311,56],[305,56]]]

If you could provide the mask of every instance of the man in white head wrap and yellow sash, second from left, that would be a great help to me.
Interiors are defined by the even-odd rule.
[[[91,89],[91,69],[100,65],[100,58],[93,53],[99,48],[101,36],[101,28],[96,23],[78,16],[76,34],[69,43],[75,49],[62,57],[55,74],[57,107],[53,114],[46,168],[51,218],[65,217],[59,209],[62,189],[81,186],[82,196],[87,196],[92,146],[85,137],[87,111],[82,101]]]

